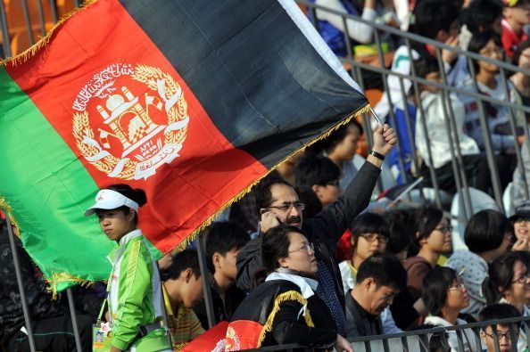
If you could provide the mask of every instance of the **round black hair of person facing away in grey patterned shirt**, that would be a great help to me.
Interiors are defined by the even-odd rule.
[[[486,209],[469,219],[464,242],[473,253],[484,253],[501,247],[505,233],[511,232],[513,226],[507,217],[498,211]]]

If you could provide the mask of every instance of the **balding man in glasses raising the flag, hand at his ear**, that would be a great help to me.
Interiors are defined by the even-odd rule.
[[[237,287],[249,291],[253,275],[261,267],[262,233],[280,224],[302,228],[315,246],[315,257],[319,266],[317,295],[333,315],[338,333],[344,334],[344,288],[334,258],[336,243],[353,218],[369,205],[385,155],[397,141],[393,129],[388,125],[378,125],[373,132],[373,140],[367,161],[344,195],[303,223],[304,204],[291,184],[279,179],[260,184],[256,190],[256,201],[261,215],[260,233],[237,256]]]

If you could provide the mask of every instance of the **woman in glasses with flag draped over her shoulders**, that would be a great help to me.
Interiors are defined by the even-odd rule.
[[[301,229],[278,225],[263,236],[257,287],[232,315],[227,351],[298,343],[352,351],[316,295],[317,259]]]

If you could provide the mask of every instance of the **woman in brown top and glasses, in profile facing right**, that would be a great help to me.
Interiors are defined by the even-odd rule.
[[[421,285],[426,274],[437,265],[444,253],[451,251],[451,225],[442,210],[426,208],[416,216],[414,241],[410,246],[413,257],[405,261],[407,286],[416,300],[421,295]]]

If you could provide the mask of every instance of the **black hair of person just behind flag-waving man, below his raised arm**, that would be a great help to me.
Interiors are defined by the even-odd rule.
[[[311,189],[314,184],[338,182],[340,176],[341,169],[323,155],[308,154],[294,167],[295,183],[301,189]]]

